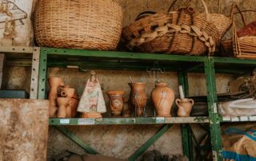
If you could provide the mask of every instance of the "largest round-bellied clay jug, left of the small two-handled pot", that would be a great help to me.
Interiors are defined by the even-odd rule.
[[[158,83],[151,92],[151,98],[159,117],[170,117],[174,104],[174,91],[166,83]]]

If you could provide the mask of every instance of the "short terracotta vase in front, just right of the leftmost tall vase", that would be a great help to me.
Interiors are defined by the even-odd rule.
[[[57,117],[66,118],[67,117],[66,108],[70,105],[70,99],[67,97],[58,97],[57,103],[58,103]]]

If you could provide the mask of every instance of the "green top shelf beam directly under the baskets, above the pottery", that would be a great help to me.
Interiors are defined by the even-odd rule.
[[[100,58],[115,58],[115,59],[136,59],[136,60],[153,60],[153,61],[194,61],[203,62],[204,57],[190,57],[182,55],[167,55],[155,53],[130,53],[116,51],[90,51],[82,49],[54,49],[42,48],[43,51],[50,55],[76,56],[76,57],[100,57]],[[157,56],[157,57],[156,57]]]

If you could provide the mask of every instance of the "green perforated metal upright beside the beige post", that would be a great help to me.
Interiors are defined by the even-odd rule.
[[[47,73],[47,53],[45,49],[41,48],[40,65],[38,77],[38,99],[46,99],[46,74]]]

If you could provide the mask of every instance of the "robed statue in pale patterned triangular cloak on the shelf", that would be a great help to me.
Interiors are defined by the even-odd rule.
[[[82,112],[83,118],[102,118],[102,113],[106,112],[102,88],[94,71],[91,71],[90,79],[82,93],[78,112]]]

